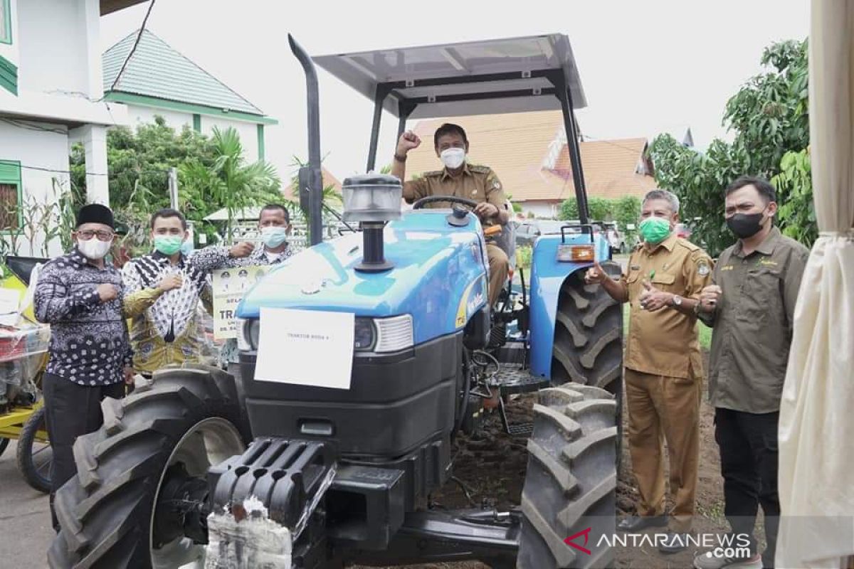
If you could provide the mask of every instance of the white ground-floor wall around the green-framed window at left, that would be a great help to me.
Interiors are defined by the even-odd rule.
[[[65,131],[62,125],[40,124],[44,128]],[[40,171],[32,169],[48,168],[50,170],[68,170],[68,136],[61,132],[32,131],[0,122],[0,160],[17,160],[23,166],[20,171],[22,187],[22,206],[44,203],[56,203],[63,189],[70,189],[67,174]],[[55,182],[56,180],[56,182]],[[26,218],[29,214],[25,214]],[[50,222],[56,226],[56,220]],[[0,233],[8,245],[11,244],[9,235]],[[44,254],[42,244],[44,232],[39,231],[31,247],[26,236],[20,236],[17,241],[19,255],[41,257]],[[61,245],[58,240],[50,243],[49,256],[58,255]]]

